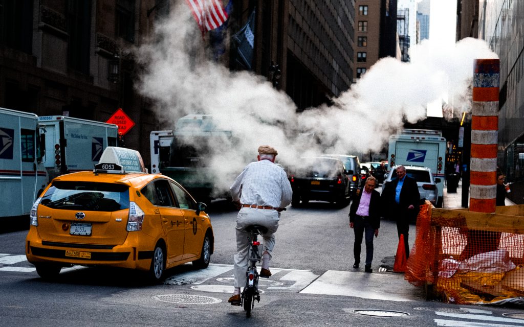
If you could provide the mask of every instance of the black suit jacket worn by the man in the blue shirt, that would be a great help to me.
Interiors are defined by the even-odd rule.
[[[400,203],[398,205],[395,202],[395,190],[397,185],[398,178],[395,178],[387,183],[385,189],[382,191],[381,198],[385,210],[383,212],[383,217],[401,215],[408,219],[416,218],[420,209],[420,193],[417,181],[414,178],[406,176],[404,184],[402,184],[402,189],[400,190]],[[408,210],[410,205],[413,205],[414,210]],[[398,212],[399,210],[400,212]]]

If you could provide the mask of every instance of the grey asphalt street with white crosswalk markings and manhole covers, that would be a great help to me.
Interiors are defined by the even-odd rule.
[[[445,205],[460,199],[460,193],[448,196]],[[147,285],[129,270],[81,266],[63,269],[57,282],[45,282],[25,261],[27,231],[0,234],[0,326],[524,325],[524,310],[426,301],[422,289],[403,274],[380,271],[397,248],[392,221],[381,222],[374,272],[353,269],[348,210],[311,202],[282,213],[273,276],[261,279],[263,294],[252,318],[227,303],[233,290],[236,211],[225,201],[212,202],[208,210],[215,233],[211,265],[168,270],[160,285]],[[410,242],[414,229],[411,225]]]

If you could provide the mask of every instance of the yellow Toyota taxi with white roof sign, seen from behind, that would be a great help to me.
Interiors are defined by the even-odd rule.
[[[137,151],[109,146],[93,172],[54,178],[36,200],[27,260],[42,278],[72,265],[145,270],[152,280],[187,262],[206,268],[214,236],[204,210],[173,179],[148,174]]]

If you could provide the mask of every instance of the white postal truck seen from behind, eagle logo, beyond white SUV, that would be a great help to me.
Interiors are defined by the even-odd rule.
[[[411,165],[428,167],[434,178],[439,178],[439,200],[436,207],[442,207],[444,196],[444,162],[446,160],[446,139],[442,132],[428,129],[405,129],[389,138],[389,167]]]

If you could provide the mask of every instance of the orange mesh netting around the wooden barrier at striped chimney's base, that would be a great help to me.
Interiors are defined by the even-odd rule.
[[[421,206],[405,278],[432,285],[450,303],[493,303],[524,296],[524,235],[515,228],[467,228],[465,211],[456,219],[432,217]]]

